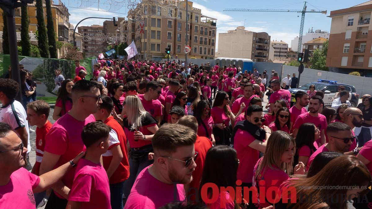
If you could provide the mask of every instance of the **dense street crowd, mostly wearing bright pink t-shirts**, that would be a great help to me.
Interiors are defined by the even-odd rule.
[[[310,86],[291,107],[295,74],[280,81],[275,71],[175,60],[105,58],[92,72],[75,65],[74,79],[55,70],[54,124],[49,104],[32,99],[33,84],[0,79],[0,208],[346,209],[351,201],[359,209],[372,202],[371,95],[351,107],[340,89],[325,107]],[[33,166],[30,126],[37,127]]]

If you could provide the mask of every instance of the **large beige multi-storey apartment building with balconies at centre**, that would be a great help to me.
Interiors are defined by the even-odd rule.
[[[164,5],[148,0],[147,14],[139,14],[139,7],[128,12],[128,43],[135,42],[138,58],[147,60],[161,60],[165,55],[165,48],[170,47],[173,59],[185,60],[185,45],[190,46],[190,59],[214,59],[216,43],[217,19],[202,15],[201,9],[193,7],[188,1],[180,1],[176,6],[170,4],[173,11]],[[170,1],[171,3],[174,1]],[[186,36],[187,18],[187,36]],[[144,22],[144,33],[140,23]]]

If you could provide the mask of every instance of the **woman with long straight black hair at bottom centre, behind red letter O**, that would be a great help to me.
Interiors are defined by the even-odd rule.
[[[234,148],[229,146],[215,146],[208,150],[203,168],[203,176],[199,187],[199,202],[206,204],[202,199],[202,188],[206,183],[212,183],[218,188],[218,199],[214,203],[206,204],[210,209],[234,209],[239,208],[235,202],[235,194],[230,196],[228,192],[221,192],[221,187],[232,187],[235,190],[239,159]],[[217,172],[216,172],[217,171]],[[207,196],[211,198],[217,192],[208,188]],[[221,206],[224,199],[225,205]]]

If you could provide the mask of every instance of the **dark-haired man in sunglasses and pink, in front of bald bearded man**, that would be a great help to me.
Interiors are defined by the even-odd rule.
[[[311,106],[311,100],[310,100],[310,106]],[[345,123],[341,123],[341,122],[330,123],[327,126],[327,136],[329,140],[328,143],[319,147],[317,151],[315,151],[309,157],[309,160],[307,161],[307,165],[306,165],[306,170],[309,170],[309,167],[312,161],[321,152],[331,151],[331,152],[341,152],[345,155],[353,154],[353,152],[348,152],[352,145],[352,141],[355,140],[355,136],[353,136],[350,126],[346,125]]]

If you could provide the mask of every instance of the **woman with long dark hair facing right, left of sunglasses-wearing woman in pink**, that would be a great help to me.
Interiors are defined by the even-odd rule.
[[[212,132],[214,122],[211,117],[211,106],[209,105],[209,102],[206,100],[200,100],[198,106],[196,106],[196,110],[194,111],[194,116],[196,120],[198,120],[198,136],[205,136],[215,144],[216,141]]]

